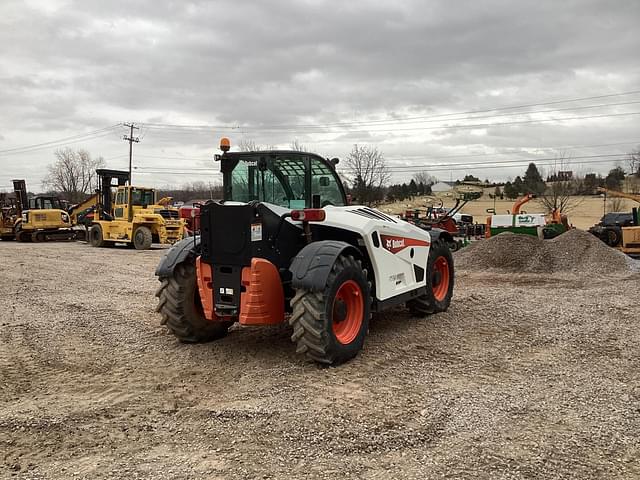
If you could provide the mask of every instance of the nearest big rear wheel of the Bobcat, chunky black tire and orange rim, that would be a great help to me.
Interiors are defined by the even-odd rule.
[[[345,292],[351,292],[348,299],[341,293],[345,288]],[[289,318],[296,352],[327,365],[337,365],[355,357],[362,350],[369,330],[370,289],[367,270],[362,268],[361,262],[353,256],[341,255],[336,259],[323,291],[297,290],[291,300],[293,313]],[[358,296],[361,296],[360,302],[351,301]]]

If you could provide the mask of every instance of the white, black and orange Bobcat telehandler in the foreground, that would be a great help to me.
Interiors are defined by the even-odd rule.
[[[327,160],[298,151],[217,155],[223,200],[200,208],[200,235],[169,250],[157,310],[181,341],[222,337],[235,322],[293,327],[296,351],[321,364],[358,354],[372,312],[447,310],[451,234],[348,205]]]

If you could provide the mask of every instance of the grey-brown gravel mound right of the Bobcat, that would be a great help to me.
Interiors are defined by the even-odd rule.
[[[632,260],[582,230],[569,230],[553,240],[502,233],[475,242],[456,254],[462,270],[497,269],[530,273],[627,273]]]

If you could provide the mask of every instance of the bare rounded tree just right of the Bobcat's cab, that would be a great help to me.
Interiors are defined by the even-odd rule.
[[[371,205],[384,198],[391,172],[376,147],[354,145],[345,163],[357,202]]]

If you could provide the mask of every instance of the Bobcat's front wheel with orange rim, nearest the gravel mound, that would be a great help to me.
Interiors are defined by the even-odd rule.
[[[448,271],[448,275],[443,273],[444,268]],[[436,240],[431,244],[427,259],[426,278],[427,292],[421,297],[407,302],[407,307],[417,317],[444,312],[451,303],[454,284],[453,255],[442,240]],[[442,282],[447,282],[446,286],[442,286]]]

